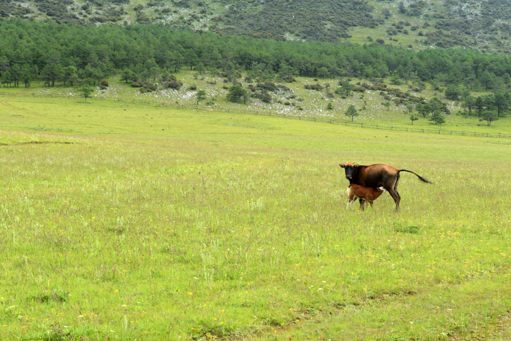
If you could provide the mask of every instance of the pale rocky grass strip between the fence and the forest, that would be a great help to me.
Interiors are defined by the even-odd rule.
[[[500,117],[497,121],[491,123],[491,126],[487,126],[486,122],[480,122],[477,117],[467,117],[458,115],[462,109],[459,101],[451,101],[446,99],[441,92],[436,92],[431,88],[430,85],[420,93],[415,93],[409,88],[409,84],[403,85],[390,85],[389,88],[397,88],[402,92],[410,92],[414,96],[420,96],[426,100],[436,96],[442,99],[446,103],[447,107],[451,110],[451,115],[445,115],[446,123],[442,125],[434,124],[429,121],[430,116],[422,117],[415,110],[413,115],[418,116],[419,120],[415,121],[413,125],[409,120],[409,113],[404,104],[392,104],[387,108],[383,105],[384,98],[379,94],[378,90],[367,90],[365,93],[352,92],[350,97],[342,98],[338,94],[333,94],[335,89],[338,87],[338,80],[336,79],[319,79],[314,81],[310,78],[297,77],[296,82],[284,83],[289,88],[287,91],[277,91],[272,93],[271,103],[264,103],[259,99],[251,98],[246,104],[243,103],[232,103],[226,100],[227,90],[223,87],[228,87],[231,83],[224,83],[224,78],[218,74],[203,74],[199,75],[196,72],[182,71],[177,74],[177,78],[183,82],[183,86],[179,90],[173,89],[158,89],[156,92],[142,94],[140,88],[133,88],[130,84],[125,83],[119,79],[120,77],[110,78],[110,87],[101,90],[95,89],[92,94],[92,98],[110,98],[110,99],[135,99],[140,101],[150,101],[167,104],[180,104],[180,105],[196,105],[196,93],[197,90],[203,89],[207,94],[207,100],[199,103],[204,106],[206,102],[212,101],[213,105],[207,105],[208,107],[221,109],[236,109],[236,110],[252,110],[277,113],[280,115],[292,116],[292,117],[305,117],[305,118],[317,118],[320,120],[328,120],[333,122],[345,122],[351,121],[351,117],[345,116],[345,111],[350,104],[355,105],[359,110],[359,116],[354,118],[356,123],[369,123],[369,124],[382,124],[392,125],[397,127],[413,127],[422,129],[443,129],[443,130],[455,130],[455,131],[471,131],[478,133],[509,133],[509,127],[511,126],[511,117]],[[243,83],[244,87],[248,86],[248,82],[242,78],[238,79]],[[388,83],[389,79],[385,79]],[[353,84],[363,83],[364,80],[352,79]],[[214,84],[212,84],[214,83]],[[253,81],[251,84],[257,84],[258,81]],[[323,90],[309,90],[305,89],[304,85],[319,83],[323,86]],[[276,82],[278,84],[278,82]],[[197,90],[191,90],[190,87],[196,86]],[[67,105],[75,106],[78,102],[83,102],[83,98],[80,100],[80,92],[76,87],[67,86],[55,86],[55,87],[44,87],[41,83],[35,82],[31,88],[23,87],[3,87],[0,88],[1,93],[21,93],[25,95],[34,94],[36,97],[30,100],[23,100],[22,97],[18,98],[21,101],[21,109],[32,110],[38,106],[38,102],[41,101],[41,96],[58,95],[67,97],[68,95],[76,96],[76,99],[71,99],[71,102]],[[330,98],[328,94],[331,93],[334,97]],[[473,96],[485,96],[490,94],[489,92],[473,92]],[[6,96],[0,96],[0,102],[7,100],[13,102],[12,98]],[[24,102],[26,101],[26,103]],[[90,100],[88,100],[90,101]],[[286,105],[286,102],[288,105]],[[332,102],[333,109],[327,109],[329,102]],[[107,103],[106,106],[118,107],[118,103]],[[210,102],[211,103],[211,102]],[[81,106],[83,107],[83,105]],[[80,106],[78,106],[80,108]],[[301,108],[301,110],[300,110]],[[124,109],[124,107],[123,107]],[[66,115],[63,113],[62,115]],[[66,119],[67,120],[67,119]],[[88,122],[86,117],[83,117],[84,122]],[[38,119],[39,121],[39,119]]]

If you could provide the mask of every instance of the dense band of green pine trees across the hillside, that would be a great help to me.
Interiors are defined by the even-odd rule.
[[[164,25],[73,26],[0,21],[0,81],[28,86],[97,84],[114,73],[155,80],[182,68],[317,78],[428,81],[438,86],[505,91],[511,58],[466,49],[413,51],[373,42],[358,45],[276,41],[173,30]]]

